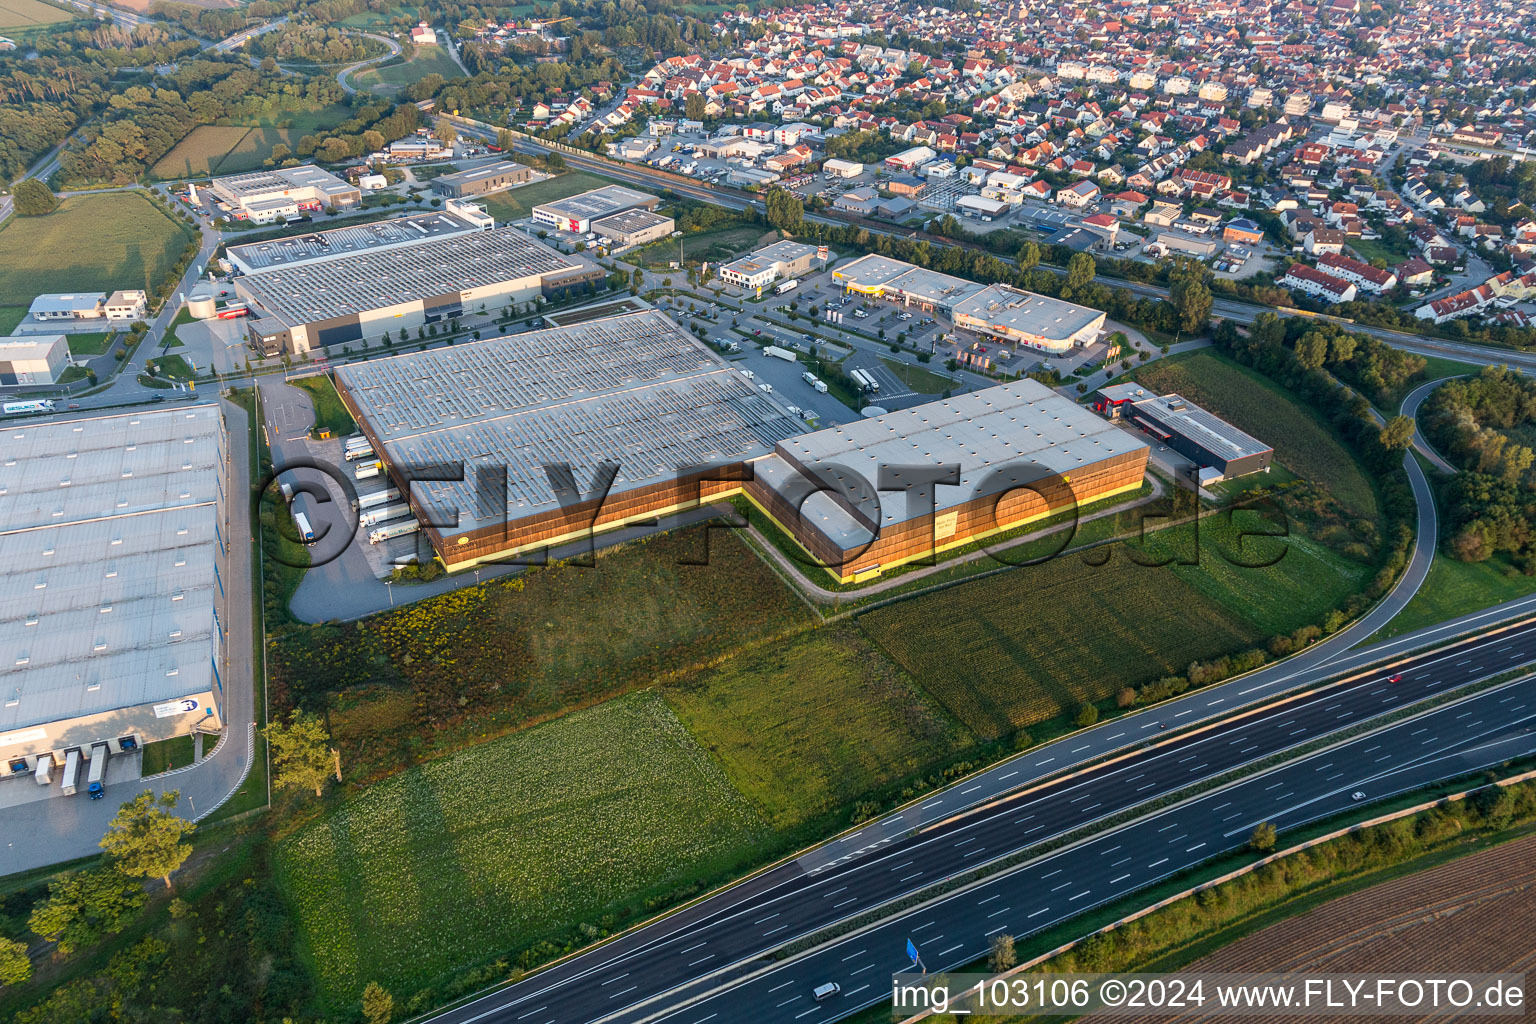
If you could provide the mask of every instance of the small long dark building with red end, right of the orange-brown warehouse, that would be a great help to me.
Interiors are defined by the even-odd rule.
[[[1269,471],[1275,450],[1178,395],[1138,384],[1111,384],[1094,393],[1094,408],[1124,419],[1174,448],[1200,471],[1201,484]]]

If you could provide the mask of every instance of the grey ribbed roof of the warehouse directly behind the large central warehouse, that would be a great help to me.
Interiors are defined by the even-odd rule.
[[[498,227],[264,270],[235,281],[266,312],[292,327],[584,266],[591,264],[581,256],[562,256],[516,229]]]

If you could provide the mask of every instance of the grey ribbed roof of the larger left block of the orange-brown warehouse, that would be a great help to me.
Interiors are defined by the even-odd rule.
[[[444,536],[481,513],[476,467],[507,468],[507,522],[556,505],[544,467],[587,488],[619,464],[613,494],[680,467],[768,454],[799,421],[656,310],[336,367],[392,465],[464,462],[464,482],[418,484]],[[484,519],[484,520],[482,520]]]

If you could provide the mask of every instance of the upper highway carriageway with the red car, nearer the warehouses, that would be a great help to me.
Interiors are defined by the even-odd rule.
[[[651,1010],[676,1006],[679,989],[708,989],[731,981],[753,970],[754,958],[837,921],[909,897],[955,872],[1012,857],[1200,780],[1253,765],[1373,715],[1407,708],[1416,700],[1498,676],[1531,660],[1536,660],[1536,622],[1405,660],[1393,668],[1402,676],[1398,683],[1387,682],[1385,672],[1372,672],[1189,734],[1169,735],[1161,743],[1155,738],[1163,732],[1158,728],[1161,723],[1152,718],[1149,731],[1129,740],[1138,748],[1117,760],[1014,792],[920,831],[872,841],[840,860],[808,864],[802,858],[780,864],[694,907],[435,1021],[565,1024],[608,1019],[610,1015],[617,1015],[613,1019],[644,1019]],[[1324,674],[1318,672],[1318,679],[1321,677]],[[1181,703],[1155,709],[1155,714],[1164,720],[1170,712],[1177,717]],[[1514,711],[1513,706],[1505,708],[1505,712]],[[1510,720],[1508,714],[1499,718],[1501,723]],[[1127,720],[1120,720],[1124,722]],[[1376,766],[1373,771],[1392,766],[1385,760],[1376,760],[1387,754],[1372,754],[1372,765]],[[1023,771],[1023,765],[1015,769]],[[1339,785],[1356,786],[1359,778],[1362,775],[1349,777]],[[1272,797],[1286,798],[1283,794]],[[1212,852],[1215,849],[1218,847],[1212,846]],[[1132,881],[1132,877],[1124,881]],[[1126,890],[1130,887],[1134,886]],[[1092,903],[1086,901],[1083,907],[1071,910],[1086,909]],[[1026,930],[1023,921],[1006,924]],[[928,966],[937,969],[932,963]],[[883,987],[883,981],[877,987]],[[653,999],[657,1003],[653,1004]],[[757,1006],[763,1004],[759,1001]],[[722,1019],[748,1018],[722,1012]],[[751,1019],[759,1018],[753,1015]]]

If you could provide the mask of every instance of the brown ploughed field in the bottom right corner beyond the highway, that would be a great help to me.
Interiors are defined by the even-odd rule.
[[[1404,875],[1255,932],[1187,970],[1525,970],[1536,838]]]

